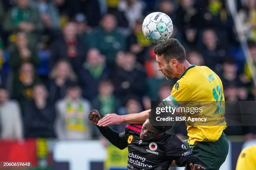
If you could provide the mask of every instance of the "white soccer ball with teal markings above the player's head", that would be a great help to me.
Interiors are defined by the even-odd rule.
[[[164,42],[172,35],[172,20],[165,13],[155,12],[148,14],[143,21],[142,31],[145,37],[151,42]]]

